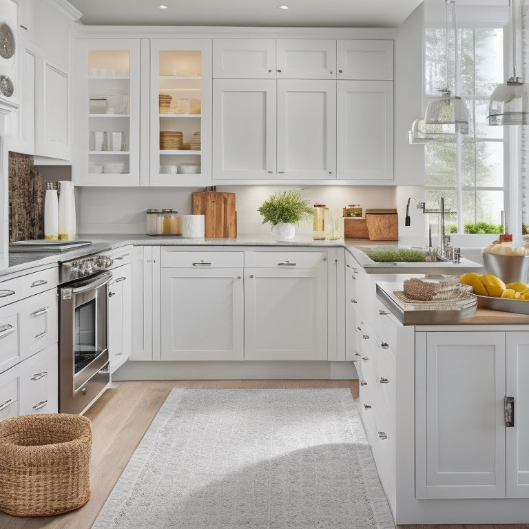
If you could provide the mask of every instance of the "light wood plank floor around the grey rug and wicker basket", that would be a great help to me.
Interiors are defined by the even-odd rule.
[[[92,498],[78,510],[43,518],[0,512],[0,529],[90,529],[123,468],[172,388],[350,388],[357,380],[198,380],[114,382],[85,415],[92,420]],[[1,484],[0,484],[1,486]],[[529,529],[527,525],[398,526],[399,529]],[[134,529],[134,528],[130,528]],[[223,528],[218,528],[223,529]],[[310,529],[310,528],[307,528]],[[332,528],[329,528],[332,529]]]

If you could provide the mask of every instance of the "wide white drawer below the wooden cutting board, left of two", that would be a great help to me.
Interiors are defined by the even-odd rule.
[[[245,254],[242,251],[181,251],[162,248],[162,268],[242,268]]]

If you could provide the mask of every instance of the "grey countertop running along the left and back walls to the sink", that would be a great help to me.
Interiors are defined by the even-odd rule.
[[[71,251],[63,252],[10,252],[9,267],[0,270],[0,276],[19,273],[36,267],[57,266],[60,261],[71,260],[94,253],[117,249],[127,245],[161,245],[161,246],[226,246],[226,247],[344,247],[364,267],[368,273],[424,273],[424,267],[434,273],[450,273],[455,270],[464,271],[481,268],[481,262],[475,259],[462,258],[461,263],[451,262],[413,263],[400,262],[382,263],[369,259],[362,250],[381,247],[417,247],[413,240],[371,241],[366,239],[335,239],[313,240],[311,236],[297,236],[293,240],[278,242],[271,234],[240,234],[237,238],[183,238],[181,236],[148,236],[145,234],[82,234],[83,240],[91,240],[92,244]],[[415,245],[414,245],[415,242]],[[481,252],[479,252],[480,257]],[[477,257],[477,256],[476,256]]]

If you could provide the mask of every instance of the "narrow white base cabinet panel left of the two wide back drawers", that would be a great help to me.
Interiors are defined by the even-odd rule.
[[[132,352],[130,360],[160,360],[160,247],[132,251]]]

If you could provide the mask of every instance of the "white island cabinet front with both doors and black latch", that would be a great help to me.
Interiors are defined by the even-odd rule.
[[[417,333],[416,366],[417,498],[529,497],[529,332]]]

